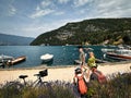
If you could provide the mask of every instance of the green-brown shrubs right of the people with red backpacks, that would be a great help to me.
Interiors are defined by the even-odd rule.
[[[131,96],[131,73],[115,75],[107,84],[98,84],[97,82],[91,84],[90,95],[92,98],[130,98]]]

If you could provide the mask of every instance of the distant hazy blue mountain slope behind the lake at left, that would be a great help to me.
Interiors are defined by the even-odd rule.
[[[1,46],[27,46],[34,38],[0,34]]]

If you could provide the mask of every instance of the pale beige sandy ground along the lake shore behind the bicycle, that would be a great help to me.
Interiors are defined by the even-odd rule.
[[[72,82],[74,76],[74,69],[78,65],[72,65],[68,68],[49,68],[48,76],[44,77],[45,81],[66,81]],[[111,75],[114,73],[129,73],[131,72],[131,62],[128,63],[106,63],[105,65],[98,66],[98,70],[102,71],[106,76]],[[37,77],[34,74],[37,74],[39,71],[44,70],[44,68],[39,69],[19,69],[19,70],[0,70],[0,84],[4,84],[5,82],[19,79],[19,75],[28,75],[26,81],[35,81]],[[22,82],[22,79],[19,79]]]

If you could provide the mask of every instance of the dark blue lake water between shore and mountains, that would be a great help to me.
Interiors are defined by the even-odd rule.
[[[96,58],[102,59],[103,46],[88,46],[94,49]],[[87,51],[85,51],[87,53]],[[48,65],[72,65],[74,60],[79,59],[79,49],[76,46],[0,46],[0,54],[12,56],[14,58],[26,56],[26,61],[13,65],[13,68],[32,68],[43,64],[40,56],[52,53],[53,60]],[[88,58],[88,56],[87,56]],[[87,61],[86,58],[86,61]]]

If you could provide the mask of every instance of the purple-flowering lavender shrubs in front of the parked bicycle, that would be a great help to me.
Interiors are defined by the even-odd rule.
[[[0,87],[0,98],[75,98],[72,84],[49,82],[41,87],[17,87],[17,83],[7,83]]]

